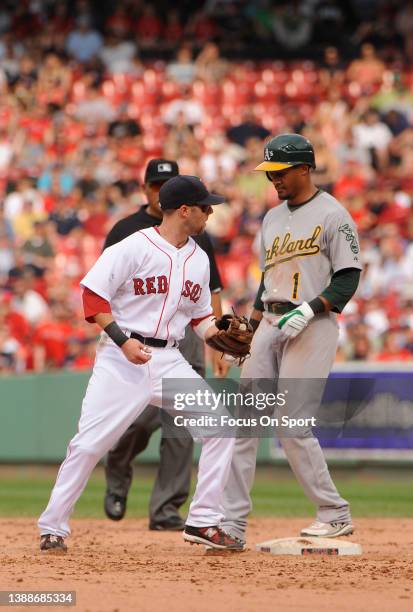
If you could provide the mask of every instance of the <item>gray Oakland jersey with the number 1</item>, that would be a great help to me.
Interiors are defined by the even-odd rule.
[[[324,191],[297,210],[283,202],[264,217],[260,265],[264,303],[308,302],[338,270],[362,269],[353,219]]]

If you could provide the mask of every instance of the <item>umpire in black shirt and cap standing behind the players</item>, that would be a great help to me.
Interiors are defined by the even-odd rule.
[[[147,165],[144,191],[148,200],[146,206],[133,215],[121,219],[109,232],[104,248],[120,242],[138,230],[159,225],[162,211],[159,207],[159,189],[168,179],[179,174],[178,164],[167,159],[152,159]],[[194,240],[209,257],[211,277],[210,289],[212,308],[217,318],[222,315],[219,292],[222,289],[211,241],[206,233],[194,236]],[[185,359],[194,370],[205,377],[204,344],[188,325],[185,338],[179,346]],[[228,366],[217,360],[214,351],[214,374],[225,376]],[[133,460],[148,445],[154,431],[161,427],[160,411],[148,406],[139,418],[126,430],[116,446],[109,451],[106,459],[106,515],[119,521],[126,511],[126,500],[132,483]],[[190,436],[180,438],[162,437],[160,463],[149,504],[149,529],[156,531],[180,531],[185,522],[179,515],[179,508],[189,495],[192,471],[193,441]]]

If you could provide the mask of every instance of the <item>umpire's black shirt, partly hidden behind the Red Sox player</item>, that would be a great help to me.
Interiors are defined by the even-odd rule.
[[[117,242],[120,242],[124,238],[127,238],[131,234],[135,232],[146,229],[147,227],[154,227],[154,225],[159,225],[161,223],[161,219],[158,217],[154,217],[147,212],[148,205],[142,206],[138,212],[133,213],[133,215],[129,215],[124,219],[121,219],[110,230],[109,234],[106,237],[105,244],[103,246],[106,249],[108,246],[112,246]],[[215,261],[214,250],[212,248],[211,240],[206,232],[199,234],[198,236],[192,236],[198,246],[201,247],[208,255],[209,259],[209,267],[211,271],[210,279],[209,279],[209,288],[211,293],[217,293],[217,291],[221,291],[222,282],[221,277],[218,272],[217,262]]]

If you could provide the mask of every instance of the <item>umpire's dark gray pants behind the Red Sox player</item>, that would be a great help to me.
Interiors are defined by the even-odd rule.
[[[205,377],[204,343],[188,325],[179,349],[194,370]],[[163,419],[165,416],[162,417]],[[133,477],[133,460],[147,447],[154,431],[162,426],[160,409],[148,406],[132,423],[112,450],[106,464],[107,492],[127,497]],[[160,462],[149,503],[151,525],[168,521],[179,515],[191,486],[193,440],[162,437]]]

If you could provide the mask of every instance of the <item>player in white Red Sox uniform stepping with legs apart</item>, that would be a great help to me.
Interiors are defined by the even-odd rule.
[[[162,186],[159,201],[162,223],[107,248],[81,281],[85,317],[104,333],[78,433],[38,522],[43,551],[67,550],[69,517],[93,468],[145,407],[173,409],[173,398],[162,397],[162,380],[195,378],[206,386],[177,347],[190,322],[204,340],[218,333],[208,257],[190,236],[205,229],[211,206],[223,198],[209,193],[199,178],[181,175]],[[199,407],[185,408],[185,416],[199,414]],[[210,434],[201,439],[184,539],[240,550],[242,544],[219,527],[234,439]]]

